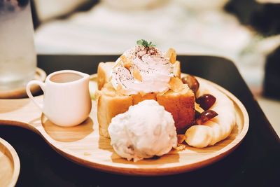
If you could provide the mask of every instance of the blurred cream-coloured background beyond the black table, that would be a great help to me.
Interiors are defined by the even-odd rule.
[[[235,62],[280,136],[280,1],[34,0],[38,54],[121,54],[138,39]]]

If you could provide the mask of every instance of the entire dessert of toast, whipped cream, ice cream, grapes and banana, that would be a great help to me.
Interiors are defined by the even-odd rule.
[[[116,62],[99,63],[97,71],[99,134],[111,137],[116,153],[137,161],[228,137],[233,102],[194,76],[181,78],[172,48],[162,53],[151,42],[137,44]]]

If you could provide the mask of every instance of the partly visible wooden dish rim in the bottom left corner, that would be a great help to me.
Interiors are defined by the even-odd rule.
[[[13,146],[0,138],[0,186],[15,186],[20,174],[20,159]]]

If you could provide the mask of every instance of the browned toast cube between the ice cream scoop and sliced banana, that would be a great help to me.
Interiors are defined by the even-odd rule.
[[[175,121],[176,131],[182,133],[193,124],[195,119],[195,94],[192,90],[185,88],[180,92],[169,90],[164,95],[157,95],[158,103],[165,110],[172,113]]]

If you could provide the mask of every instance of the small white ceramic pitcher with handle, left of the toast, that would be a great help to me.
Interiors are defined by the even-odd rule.
[[[90,114],[92,102],[89,92],[90,76],[73,70],[56,71],[47,76],[45,83],[30,81],[28,97],[52,123],[70,127],[82,123]],[[44,93],[43,104],[31,94],[31,85],[39,85]]]

